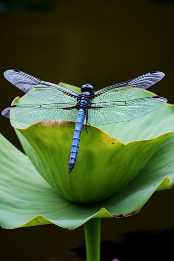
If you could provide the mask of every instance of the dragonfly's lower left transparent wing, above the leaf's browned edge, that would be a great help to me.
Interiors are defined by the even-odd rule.
[[[49,121],[54,121],[56,127],[64,127],[74,124],[77,109],[68,104],[12,105],[5,108],[2,115],[11,120],[38,126],[47,126]]]

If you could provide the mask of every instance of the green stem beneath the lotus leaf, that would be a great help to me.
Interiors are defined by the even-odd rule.
[[[86,261],[100,261],[100,223],[99,218],[84,223]]]

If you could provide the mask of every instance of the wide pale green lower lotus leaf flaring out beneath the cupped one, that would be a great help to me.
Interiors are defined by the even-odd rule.
[[[72,230],[92,217],[131,216],[140,211],[155,190],[174,186],[174,135],[126,187],[109,200],[92,205],[75,204],[62,198],[39,175],[26,155],[2,135],[0,142],[0,224],[3,228],[55,224]]]

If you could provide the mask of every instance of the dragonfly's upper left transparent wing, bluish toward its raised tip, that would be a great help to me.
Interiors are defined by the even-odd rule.
[[[4,77],[21,91],[41,100],[76,102],[78,94],[60,85],[41,81],[19,70],[8,70]]]

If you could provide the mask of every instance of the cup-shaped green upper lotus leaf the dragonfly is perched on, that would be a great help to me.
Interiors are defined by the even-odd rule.
[[[60,84],[73,89],[73,86]],[[74,91],[79,92],[79,89],[76,88]],[[149,92],[141,94],[146,97],[151,95],[153,94]],[[15,99],[13,104],[36,104],[38,102],[40,100],[25,95],[21,99]],[[71,174],[68,173],[68,165],[74,125],[68,127],[31,125],[26,127],[28,124],[13,121],[13,126],[25,153],[40,175],[63,198],[76,203],[90,204],[106,200],[123,189],[172,135],[172,133],[165,134],[163,131],[174,129],[170,125],[171,113],[168,113],[170,107],[173,109],[173,106],[168,104],[165,106],[136,120],[119,123],[122,124],[120,129],[118,129],[118,123],[104,125],[101,128],[106,133],[93,126],[88,127],[88,133],[86,133],[83,125],[79,152]],[[163,118],[166,122],[165,128]],[[50,126],[56,124],[56,121],[49,122]],[[163,130],[161,130],[162,128]],[[127,137],[130,141],[136,140],[137,136],[143,140],[124,144],[108,133],[115,138],[117,133],[121,133],[120,138],[124,142]],[[133,138],[130,138],[131,135]]]

